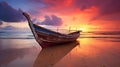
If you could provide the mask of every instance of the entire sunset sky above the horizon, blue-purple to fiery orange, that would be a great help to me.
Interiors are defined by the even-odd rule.
[[[120,29],[120,0],[0,0],[0,30],[29,28],[33,23],[85,31]]]

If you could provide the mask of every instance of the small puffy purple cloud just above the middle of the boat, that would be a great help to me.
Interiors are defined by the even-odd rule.
[[[40,22],[39,24],[41,24],[41,25],[60,26],[60,25],[62,25],[62,19],[55,16],[55,15],[52,15],[51,17],[45,16],[45,20]]]

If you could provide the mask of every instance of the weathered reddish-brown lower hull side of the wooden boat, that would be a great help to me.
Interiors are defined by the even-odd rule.
[[[52,34],[40,33],[39,31],[36,31],[36,33],[38,35],[37,37],[38,43],[42,48],[74,42],[79,37],[79,34],[74,38],[72,37],[70,38],[70,37],[61,37]]]

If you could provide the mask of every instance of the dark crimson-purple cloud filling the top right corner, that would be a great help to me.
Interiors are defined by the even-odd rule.
[[[91,7],[98,9],[97,15],[92,20],[99,19],[102,16],[120,14],[120,0],[74,0],[73,5],[84,11]]]

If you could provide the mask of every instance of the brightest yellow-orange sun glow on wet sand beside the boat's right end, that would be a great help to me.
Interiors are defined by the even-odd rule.
[[[94,57],[97,55],[97,53],[99,53],[99,51],[93,47],[93,42],[95,42],[94,40],[88,38],[80,38],[78,41],[80,42],[80,45],[75,47],[72,52],[76,57]]]

